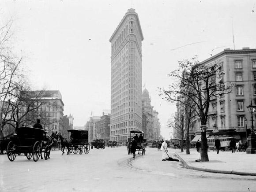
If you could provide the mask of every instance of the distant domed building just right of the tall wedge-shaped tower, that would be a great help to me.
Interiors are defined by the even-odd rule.
[[[146,139],[159,139],[160,136],[158,112],[153,108],[149,92],[144,89],[142,92],[142,128]]]

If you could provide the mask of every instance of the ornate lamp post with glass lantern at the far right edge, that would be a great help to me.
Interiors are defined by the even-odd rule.
[[[248,137],[248,148],[246,150],[247,154],[254,154],[256,153],[256,137],[254,134],[254,129],[253,129],[253,113],[255,112],[255,108],[256,106],[252,105],[252,101],[251,104],[249,106],[247,106],[248,111],[251,113],[251,117],[252,117],[252,130],[251,133]],[[247,132],[246,132],[247,133]]]

